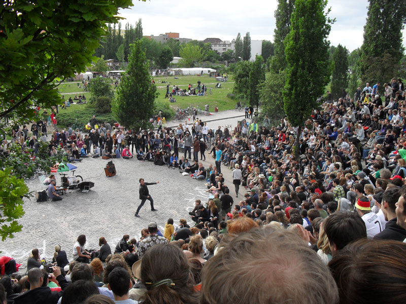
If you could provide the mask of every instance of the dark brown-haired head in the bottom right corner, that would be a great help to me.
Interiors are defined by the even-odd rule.
[[[361,239],[347,245],[328,264],[339,289],[339,303],[406,302],[405,254],[406,244],[393,240]],[[376,278],[380,278],[379,288]]]

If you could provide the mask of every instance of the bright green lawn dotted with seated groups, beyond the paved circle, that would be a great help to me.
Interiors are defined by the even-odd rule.
[[[176,102],[170,103],[173,109],[177,108],[186,108],[188,106],[199,106],[200,108],[204,108],[206,104],[209,105],[209,110],[214,111],[214,107],[217,106],[219,111],[222,110],[229,110],[233,109],[236,103],[236,100],[232,100],[227,97],[228,93],[232,93],[232,88],[234,86],[234,82],[232,81],[232,75],[228,75],[228,82],[222,82],[220,89],[215,89],[215,85],[217,81],[214,77],[209,77],[208,75],[204,76],[177,76],[178,79],[175,79],[173,76],[171,77],[154,77],[155,85],[157,87],[158,97],[157,99],[163,100],[165,102],[169,102],[168,99],[165,99],[166,93],[166,85],[170,85],[170,91],[172,91],[172,87],[178,86],[180,88],[187,88],[189,84],[192,84],[194,87],[197,86],[197,81],[200,80],[201,84],[205,84],[207,86],[207,95],[206,96],[176,96]],[[161,82],[167,83],[161,83]],[[114,88],[114,85],[112,85]],[[212,88],[212,95],[209,95],[209,90]],[[86,99],[89,100],[90,93],[84,92],[83,88],[78,88],[77,83],[63,83],[58,87],[59,93],[65,96],[65,99],[69,98],[70,96],[73,97],[75,93],[82,92],[81,95],[84,93]],[[71,107],[67,108],[66,111],[75,111],[75,108],[82,107],[83,105],[76,105],[73,104]]]

